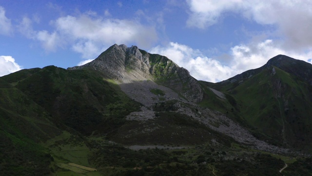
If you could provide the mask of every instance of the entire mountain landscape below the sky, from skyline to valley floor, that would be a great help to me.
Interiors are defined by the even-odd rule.
[[[0,175],[311,175],[310,74],[279,55],[209,83],[124,44],[23,69],[0,77]]]

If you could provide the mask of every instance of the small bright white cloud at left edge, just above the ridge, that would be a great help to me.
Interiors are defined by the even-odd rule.
[[[7,75],[22,69],[12,56],[0,56],[0,76]]]

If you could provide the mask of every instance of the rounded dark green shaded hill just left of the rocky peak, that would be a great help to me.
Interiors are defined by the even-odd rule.
[[[51,113],[59,128],[65,124],[83,134],[112,132],[139,107],[118,85],[87,69],[47,66],[19,80],[16,88]]]

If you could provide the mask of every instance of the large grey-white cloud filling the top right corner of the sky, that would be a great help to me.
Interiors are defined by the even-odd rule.
[[[227,12],[259,24],[272,24],[288,49],[312,47],[311,0],[187,0],[189,26],[206,28]]]

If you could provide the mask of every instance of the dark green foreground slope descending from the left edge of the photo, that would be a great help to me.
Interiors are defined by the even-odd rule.
[[[0,78],[0,175],[46,175],[51,155],[40,145],[58,135],[48,113]]]

